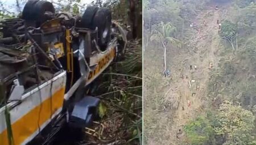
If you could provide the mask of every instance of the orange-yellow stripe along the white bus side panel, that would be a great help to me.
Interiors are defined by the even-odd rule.
[[[22,118],[20,118],[18,121],[14,122],[11,125],[15,145],[23,143],[24,140],[26,140],[36,130],[38,130],[38,125],[42,126],[43,123],[51,117],[51,113],[55,113],[57,109],[63,106],[64,93],[65,88],[61,88],[55,94],[53,94],[52,97],[49,97],[47,100],[43,101],[39,106],[36,106],[34,109],[32,109],[30,112],[28,112],[26,115],[24,115]],[[40,107],[41,112],[39,115]],[[9,144],[7,130],[3,131],[0,134],[0,144]]]

